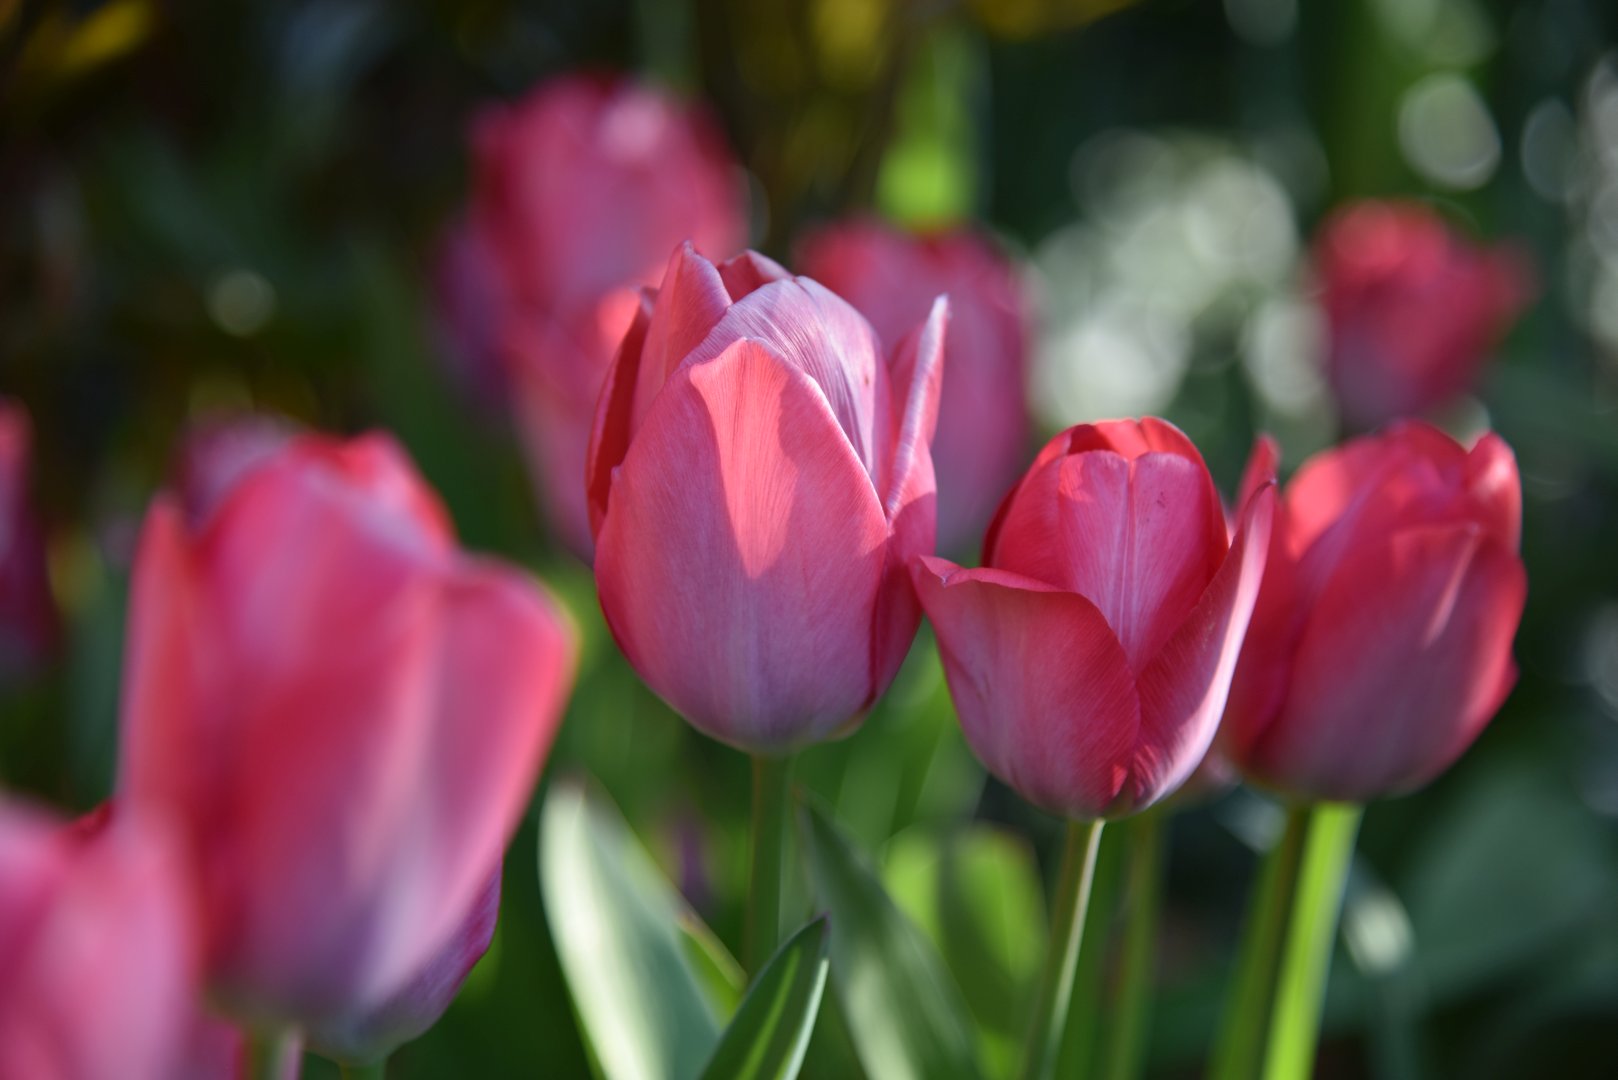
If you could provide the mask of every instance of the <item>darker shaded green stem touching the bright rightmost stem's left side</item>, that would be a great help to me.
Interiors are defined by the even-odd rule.
[[[1247,923],[1241,931],[1236,976],[1225,1022],[1214,1044],[1209,1080],[1254,1080],[1259,1075],[1270,1002],[1275,999],[1277,963],[1286,938],[1286,915],[1298,889],[1307,824],[1306,806],[1288,808],[1286,829],[1264,857],[1247,907]]]

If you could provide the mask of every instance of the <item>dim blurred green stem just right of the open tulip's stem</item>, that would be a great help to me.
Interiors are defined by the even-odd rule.
[[[1102,1075],[1133,1080],[1146,1057],[1157,960],[1157,908],[1163,889],[1163,813],[1146,811],[1125,826],[1128,892],[1125,894],[1123,970]]]

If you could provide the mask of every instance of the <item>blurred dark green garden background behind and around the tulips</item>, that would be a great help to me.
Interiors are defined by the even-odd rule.
[[[1165,188],[1155,159],[1131,165],[1120,147],[1194,144],[1184,160],[1212,154],[1281,193],[1288,243],[1335,201],[1406,194],[1518,236],[1540,269],[1540,303],[1451,418],[1495,424],[1523,463],[1521,680],[1456,769],[1367,811],[1319,1075],[1610,1075],[1615,50],[1608,0],[0,2],[0,390],[36,419],[34,487],[70,620],[60,664],[6,691],[0,774],[71,808],[110,790],[133,534],[188,421],[254,406],[337,431],[385,426],[468,544],[534,567],[579,623],[579,688],[547,774],[594,776],[735,947],[744,759],[633,677],[587,572],[545,539],[505,418],[458,397],[434,353],[426,267],[464,194],[469,115],[574,66],[639,70],[712,100],[754,181],[756,241],[777,254],[806,220],[870,206],[917,225],[976,217],[1031,253],[1069,230],[1105,233],[1126,206],[1149,210],[1129,219],[1150,225],[1144,236],[1175,240],[1141,264],[1147,282],[1196,269],[1176,222],[1207,220],[1186,209],[1207,188]],[[1434,76],[1450,97],[1413,97]],[[1484,104],[1487,130],[1434,141],[1424,117],[1456,86]],[[1097,168],[1121,180],[1097,188]],[[1243,198],[1215,201],[1212,220],[1244,220]],[[1060,322],[1094,266],[1071,261],[1063,277],[1048,269],[1060,251],[1047,254],[1037,288]],[[1243,280],[1175,316],[1183,366],[1162,402],[1226,491],[1256,427],[1283,434],[1288,466],[1335,436],[1328,413],[1265,397],[1269,368],[1251,355],[1265,313],[1306,304],[1307,285],[1291,269]],[[1167,325],[1146,311],[1149,329]],[[1047,424],[1084,418],[1037,405]],[[874,866],[837,863],[843,887],[914,928],[1003,1072],[1044,947],[1039,866],[1048,874],[1057,829],[984,782],[925,631],[866,725],[796,772],[858,847],[885,852],[896,907],[870,900]],[[1165,823],[1147,1043],[1158,1075],[1197,1072],[1273,818],[1238,792]],[[814,873],[791,868],[803,913],[845,850],[838,832],[815,836]],[[493,949],[393,1075],[589,1075],[537,847],[531,816]],[[833,962],[838,931],[833,918]],[[867,1018],[828,993],[806,1072],[858,1075]],[[333,1074],[311,1059],[309,1075]]]

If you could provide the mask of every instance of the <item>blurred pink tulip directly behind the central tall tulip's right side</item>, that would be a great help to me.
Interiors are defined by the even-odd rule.
[[[909,236],[877,222],[811,235],[799,266],[870,319],[888,348],[925,317],[935,296],[950,296],[932,447],[938,547],[976,541],[1026,460],[1027,330],[1014,269],[972,233]]]

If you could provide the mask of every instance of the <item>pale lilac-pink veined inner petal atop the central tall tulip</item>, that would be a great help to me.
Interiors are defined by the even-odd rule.
[[[806,277],[772,282],[738,300],[684,363],[702,364],[738,338],[764,342],[814,381],[870,483],[879,483],[893,418],[888,371],[870,324]]]

